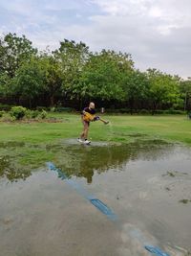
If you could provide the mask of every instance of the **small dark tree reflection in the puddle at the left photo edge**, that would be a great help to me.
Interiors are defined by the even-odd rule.
[[[9,180],[15,181],[19,178],[25,179],[30,176],[31,172],[24,168],[18,169],[11,162],[8,155],[0,156],[0,177],[6,176]]]

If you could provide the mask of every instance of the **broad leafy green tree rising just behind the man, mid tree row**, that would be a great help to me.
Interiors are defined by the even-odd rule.
[[[124,100],[124,78],[132,69],[133,60],[130,55],[106,50],[92,54],[83,69],[80,81],[81,97]]]

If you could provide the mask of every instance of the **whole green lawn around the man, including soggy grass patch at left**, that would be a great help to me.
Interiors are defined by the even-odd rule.
[[[28,168],[55,160],[57,151],[47,151],[47,147],[79,136],[82,129],[79,115],[50,113],[49,117],[58,118],[61,122],[0,122],[0,172],[1,166],[5,165],[5,157]],[[104,115],[103,118],[109,120],[110,124],[92,123],[89,134],[92,141],[129,143],[159,139],[191,145],[191,120],[183,115]],[[2,157],[4,160],[1,160]]]

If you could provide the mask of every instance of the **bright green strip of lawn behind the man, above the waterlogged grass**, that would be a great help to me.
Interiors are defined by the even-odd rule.
[[[77,138],[82,125],[78,115],[52,114],[61,123],[0,123],[1,142],[43,144],[62,138]],[[97,141],[130,142],[135,137],[149,137],[191,145],[191,120],[185,116],[103,116],[110,125],[91,123],[90,137]]]

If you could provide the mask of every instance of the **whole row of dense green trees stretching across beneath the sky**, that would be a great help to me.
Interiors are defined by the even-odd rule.
[[[130,109],[190,109],[191,80],[150,68],[140,72],[131,55],[64,39],[53,52],[39,52],[25,35],[0,38],[2,104],[97,106]]]

